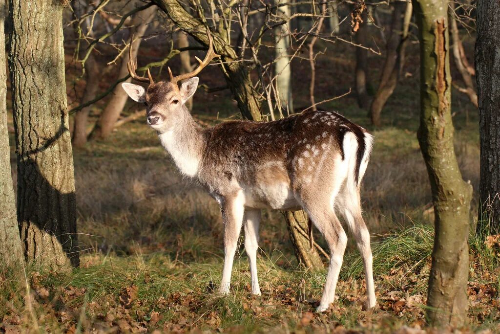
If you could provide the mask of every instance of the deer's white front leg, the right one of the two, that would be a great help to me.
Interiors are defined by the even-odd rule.
[[[260,210],[245,210],[245,251],[248,256],[251,276],[251,292],[260,294],[257,278],[258,225]]]

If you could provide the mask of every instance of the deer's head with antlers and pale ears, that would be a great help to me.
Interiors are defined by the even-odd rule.
[[[169,81],[160,81],[155,83],[147,70],[147,78],[139,77],[135,70],[137,69],[137,59],[132,60],[132,46],[130,40],[129,46],[129,60],[127,63],[128,73],[130,77],[139,82],[148,83],[147,88],[139,85],[122,83],[121,87],[125,90],[128,96],[139,103],[146,105],[146,121],[149,126],[158,131],[168,131],[175,125],[175,120],[179,115],[182,115],[184,104],[190,97],[194,95],[198,87],[198,77],[196,75],[207,66],[213,58],[220,57],[213,51],[212,37],[208,35],[208,52],[204,60],[195,57],[199,62],[199,66],[190,73],[181,74],[174,77],[172,71],[168,68],[170,75]],[[178,82],[185,80],[178,87]]]

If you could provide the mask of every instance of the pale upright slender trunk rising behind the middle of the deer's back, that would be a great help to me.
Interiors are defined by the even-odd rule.
[[[277,0],[276,4],[279,5],[282,2],[282,0]],[[278,15],[283,17],[283,19],[289,18],[290,7],[280,7]],[[278,99],[281,104],[281,109],[286,110],[287,115],[289,115],[290,112],[293,113],[293,99],[291,94],[291,59],[288,57],[288,48],[290,47],[289,32],[289,21],[288,23],[274,29],[274,57],[276,59],[274,74],[276,76],[276,88],[278,90]]]

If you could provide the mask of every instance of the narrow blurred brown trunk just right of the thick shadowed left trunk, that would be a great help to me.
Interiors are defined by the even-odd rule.
[[[99,89],[99,66],[93,53],[85,61],[85,81],[85,90],[81,103],[93,100]],[[83,147],[87,143],[87,120],[91,109],[91,105],[87,106],[74,115],[71,138],[74,147]]]

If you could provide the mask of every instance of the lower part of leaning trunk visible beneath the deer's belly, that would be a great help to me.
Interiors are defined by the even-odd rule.
[[[323,262],[319,253],[315,248],[311,248],[305,212],[285,211],[284,216],[298,263],[306,268],[322,268]]]

